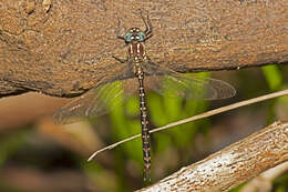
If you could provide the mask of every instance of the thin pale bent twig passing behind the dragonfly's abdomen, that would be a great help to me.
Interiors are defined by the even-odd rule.
[[[222,107],[222,108],[217,108],[217,109],[215,109],[215,110],[210,110],[210,111],[208,111],[208,112],[205,112],[205,113],[202,113],[202,114],[197,114],[197,115],[194,115],[194,117],[184,119],[184,120],[179,120],[179,121],[176,121],[176,122],[166,124],[166,125],[161,127],[161,128],[153,129],[153,130],[150,131],[150,133],[158,132],[158,131],[162,131],[162,130],[172,128],[172,127],[176,127],[176,125],[179,125],[179,124],[188,123],[188,122],[191,122],[191,121],[195,121],[195,120],[199,120],[199,119],[203,119],[203,118],[212,117],[212,115],[219,114],[219,113],[223,113],[223,112],[226,112],[226,111],[236,109],[236,108],[240,108],[240,107],[245,107],[245,105],[248,105],[248,104],[257,103],[257,102],[260,102],[260,101],[265,101],[265,100],[269,100],[269,99],[282,97],[282,95],[286,95],[286,94],[288,94],[288,90],[278,91],[278,92],[274,92],[274,93],[270,93],[270,94],[265,94],[265,95],[261,95],[261,97],[258,97],[258,98],[254,98],[254,99],[240,101],[240,102],[237,102],[237,103],[234,103],[234,104],[229,104],[229,105],[226,105],[226,107]],[[140,137],[141,137],[141,134],[136,134],[136,135],[133,135],[133,137],[127,138],[127,139],[125,139],[125,140],[119,141],[119,142],[116,142],[116,143],[114,143],[114,144],[111,144],[111,145],[109,145],[109,146],[105,146],[105,148],[103,148],[103,149],[101,149],[101,150],[94,152],[94,153],[88,159],[88,161],[91,161],[91,160],[92,160],[95,155],[97,155],[100,152],[114,149],[115,146],[117,146],[117,145],[120,145],[120,144],[122,144],[122,143],[124,143],[124,142],[134,140],[134,139],[140,138]]]

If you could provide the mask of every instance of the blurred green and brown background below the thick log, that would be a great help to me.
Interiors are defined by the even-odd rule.
[[[235,98],[218,101],[184,101],[148,92],[151,128],[287,89],[287,73],[286,65],[200,73],[237,90]],[[93,151],[141,132],[137,94],[107,115],[55,125],[51,115],[65,102],[34,93],[0,100],[0,192],[125,192],[145,186],[141,139],[86,162]],[[153,182],[276,120],[287,121],[287,110],[288,97],[282,97],[154,133]],[[274,181],[272,191],[288,191],[288,172]]]

